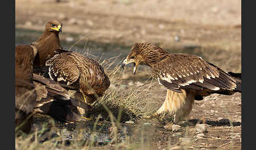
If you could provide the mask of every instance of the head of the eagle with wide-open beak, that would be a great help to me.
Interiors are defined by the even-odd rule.
[[[139,64],[152,67],[166,54],[168,54],[167,51],[149,42],[135,43],[131,52],[123,61],[122,68],[129,63],[133,63],[133,74],[135,74]]]

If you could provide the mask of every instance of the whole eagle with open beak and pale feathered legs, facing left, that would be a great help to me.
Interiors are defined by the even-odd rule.
[[[241,93],[241,73],[225,72],[199,56],[169,53],[149,42],[135,43],[122,62],[133,63],[135,75],[138,65],[152,69],[152,77],[167,88],[163,105],[152,118],[162,112],[174,113],[174,123],[188,116],[194,100],[203,100],[212,93],[232,95]]]

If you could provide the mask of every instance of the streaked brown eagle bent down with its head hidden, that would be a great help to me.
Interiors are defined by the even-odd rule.
[[[54,55],[45,65],[49,67],[51,79],[69,86],[72,97],[89,105],[102,97],[110,86],[110,79],[100,63],[76,51]],[[84,116],[83,108],[78,106],[77,110]]]

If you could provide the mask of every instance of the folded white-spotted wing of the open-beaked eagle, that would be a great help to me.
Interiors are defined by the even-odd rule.
[[[199,56],[184,53],[170,53],[152,67],[152,73],[161,84],[177,92],[180,88],[233,90],[236,87],[230,74]]]

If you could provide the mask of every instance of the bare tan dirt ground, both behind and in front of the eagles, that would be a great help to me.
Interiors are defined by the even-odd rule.
[[[104,53],[106,59],[121,55],[119,62],[135,42],[148,41],[170,52],[201,55],[226,71],[241,72],[241,1],[17,0],[15,4],[16,44],[34,41],[48,20],[58,19],[63,23],[60,39],[65,49],[78,41],[72,50],[90,50],[97,58]],[[165,99],[166,89],[154,80],[151,84],[145,82],[151,75],[149,67],[140,66],[136,76],[132,76],[131,67],[126,68],[119,87],[113,86],[125,93],[134,85],[135,89],[152,85],[139,100],[147,102],[148,114],[156,111]],[[140,143],[131,149],[241,149],[240,93],[214,94],[195,101],[190,122],[181,122],[180,131],[164,128],[170,123],[168,115],[152,120],[138,116],[121,119],[131,142]],[[50,117],[43,116],[42,120],[49,121]],[[129,120],[134,123],[125,123]],[[108,121],[109,117],[103,117],[100,123]],[[195,131],[194,124],[200,121],[208,125],[204,135]],[[79,130],[92,124],[88,122]],[[99,147],[115,146],[94,148]]]

